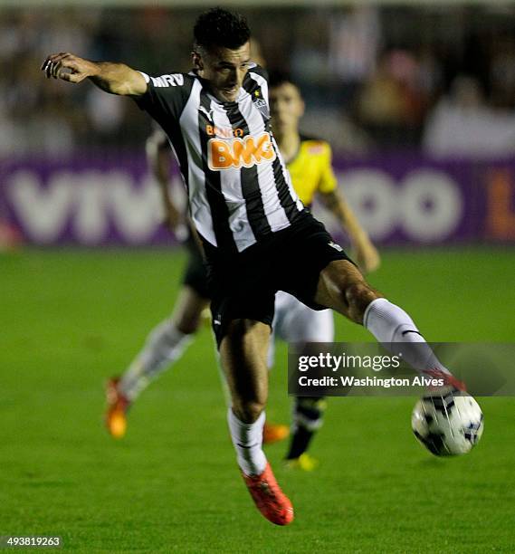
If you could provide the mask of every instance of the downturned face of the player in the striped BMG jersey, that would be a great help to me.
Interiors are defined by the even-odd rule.
[[[249,71],[250,43],[236,50],[218,47],[203,54],[194,54],[193,62],[199,77],[209,81],[218,100],[234,102]]]

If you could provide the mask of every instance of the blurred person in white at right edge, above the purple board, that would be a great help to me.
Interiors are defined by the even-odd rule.
[[[424,130],[424,150],[435,157],[488,158],[515,152],[515,112],[486,105],[480,83],[458,76],[434,108]]]

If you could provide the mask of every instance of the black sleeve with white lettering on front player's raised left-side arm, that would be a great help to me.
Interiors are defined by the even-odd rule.
[[[147,81],[147,91],[134,99],[139,108],[147,111],[162,127],[166,127],[170,119],[177,121],[186,106],[195,77],[187,73],[159,77],[140,73]]]

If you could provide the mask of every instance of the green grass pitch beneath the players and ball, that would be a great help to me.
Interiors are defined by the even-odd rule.
[[[513,552],[513,398],[480,399],[482,443],[436,459],[415,398],[333,398],[316,473],[281,467],[296,521],[255,510],[235,465],[208,330],[140,397],[125,439],[103,382],[174,303],[184,254],[25,251],[0,257],[0,535],[60,535],[79,552]],[[427,339],[511,341],[515,252],[391,252],[370,281]],[[338,339],[369,339],[338,321]],[[268,416],[287,421],[285,349]]]

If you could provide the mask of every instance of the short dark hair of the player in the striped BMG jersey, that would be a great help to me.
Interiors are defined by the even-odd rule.
[[[251,38],[251,30],[241,14],[215,7],[200,14],[193,28],[195,51],[216,46],[237,50]]]

